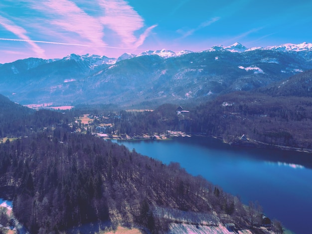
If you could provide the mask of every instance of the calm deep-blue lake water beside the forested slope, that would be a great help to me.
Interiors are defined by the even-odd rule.
[[[203,137],[113,142],[165,164],[179,162],[245,204],[259,201],[271,220],[296,234],[312,232],[312,154],[231,147]]]

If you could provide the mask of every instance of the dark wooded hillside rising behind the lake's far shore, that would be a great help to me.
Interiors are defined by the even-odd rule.
[[[177,105],[164,104],[156,110],[123,112],[114,129],[120,135],[138,136],[165,133],[215,136],[228,143],[278,145],[312,149],[312,101],[309,97],[271,96],[260,92],[240,91],[225,94],[197,106],[185,106],[188,113],[177,114]]]

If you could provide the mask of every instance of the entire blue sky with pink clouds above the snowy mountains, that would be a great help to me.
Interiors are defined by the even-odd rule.
[[[0,63],[312,43],[311,0],[0,0]]]

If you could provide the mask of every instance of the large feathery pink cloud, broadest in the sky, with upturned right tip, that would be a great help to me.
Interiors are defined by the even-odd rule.
[[[41,22],[33,22],[32,26],[40,28],[41,31],[46,27],[45,34],[51,36],[57,34],[66,44],[133,48],[140,46],[155,27],[155,25],[148,27],[142,35],[137,37],[135,33],[145,26],[144,19],[125,0],[96,0],[92,2],[92,15],[87,13],[90,13],[89,5],[79,4],[78,6],[79,1],[77,4],[72,0],[26,1],[30,8],[42,15]],[[114,35],[117,36],[114,41],[115,43],[121,41],[120,46],[108,46],[107,41],[111,38],[105,35],[107,29],[117,34]]]

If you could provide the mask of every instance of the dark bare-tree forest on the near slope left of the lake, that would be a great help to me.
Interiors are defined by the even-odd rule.
[[[187,174],[178,163],[164,165],[88,132],[76,132],[72,116],[77,110],[34,112],[2,101],[3,136],[15,138],[0,144],[1,196],[13,201],[15,217],[31,234],[66,233],[92,222],[151,233],[167,232],[172,222],[235,223],[238,229],[263,222],[259,204],[243,205],[202,177]],[[151,113],[159,117],[157,112],[145,114]],[[170,123],[165,113],[161,121]],[[4,128],[10,116],[19,128]],[[153,126],[153,118],[150,121]],[[280,232],[280,223],[274,224]]]

